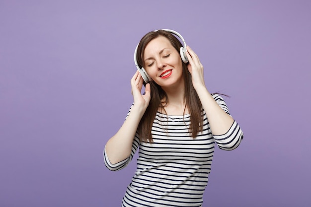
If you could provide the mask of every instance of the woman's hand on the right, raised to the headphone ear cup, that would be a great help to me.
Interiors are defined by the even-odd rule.
[[[196,89],[199,86],[205,87],[204,75],[203,75],[203,65],[201,64],[197,54],[191,50],[189,46],[187,46],[187,58],[189,64],[187,65],[188,70],[192,76],[192,84]]]

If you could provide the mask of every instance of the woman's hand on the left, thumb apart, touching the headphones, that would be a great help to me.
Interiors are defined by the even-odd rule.
[[[140,72],[137,70],[134,76],[131,79],[132,85],[132,95],[134,97],[134,106],[144,109],[146,111],[151,95],[150,95],[150,83],[147,83],[145,86],[145,94],[142,95],[142,87],[143,87],[144,79]]]

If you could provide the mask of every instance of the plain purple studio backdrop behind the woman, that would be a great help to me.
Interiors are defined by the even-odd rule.
[[[133,53],[178,31],[244,132],[216,149],[204,207],[311,206],[310,0],[1,0],[0,206],[119,207],[104,166],[133,102]]]

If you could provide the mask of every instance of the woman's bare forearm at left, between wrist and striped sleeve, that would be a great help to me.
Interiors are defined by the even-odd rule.
[[[112,164],[118,163],[130,156],[133,139],[143,115],[144,111],[134,105],[122,127],[107,141],[105,149]]]

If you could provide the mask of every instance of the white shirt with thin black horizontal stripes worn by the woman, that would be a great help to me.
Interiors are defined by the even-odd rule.
[[[223,98],[217,94],[213,97],[230,115]],[[243,138],[235,121],[226,134],[213,135],[205,112],[203,115],[203,131],[196,138],[188,132],[190,115],[171,116],[157,112],[152,127],[154,143],[140,142],[136,134],[131,155],[116,164],[109,162],[104,150],[105,165],[115,171],[126,167],[139,149],[137,170],[122,207],[202,206],[215,143],[221,149],[233,150]]]

